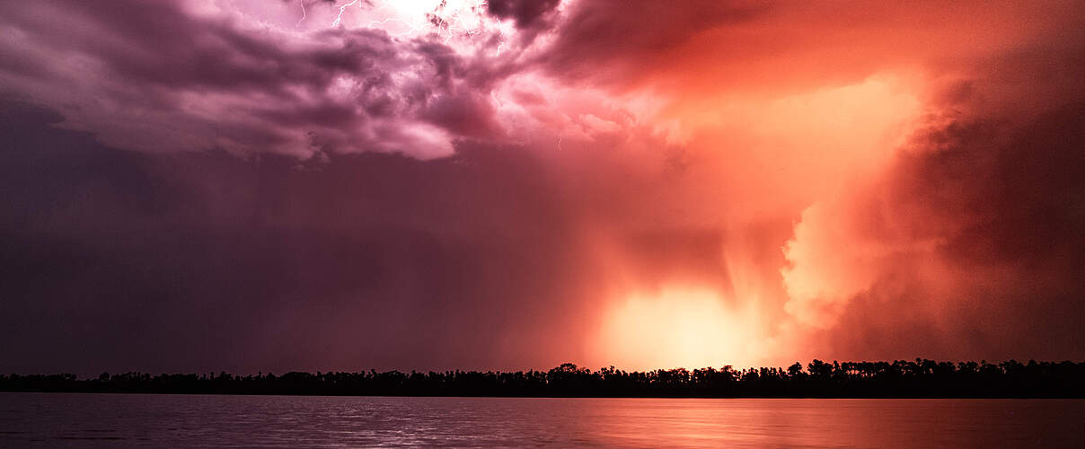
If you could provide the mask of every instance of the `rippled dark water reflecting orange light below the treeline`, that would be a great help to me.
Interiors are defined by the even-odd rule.
[[[0,446],[1083,447],[1085,400],[0,394]]]

